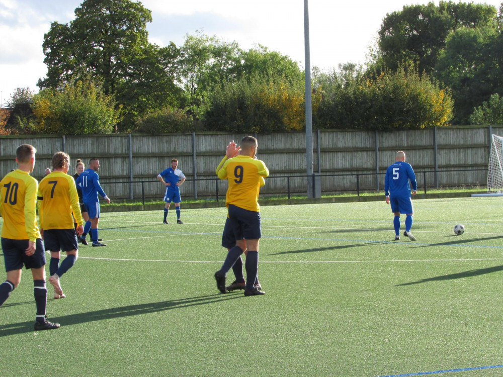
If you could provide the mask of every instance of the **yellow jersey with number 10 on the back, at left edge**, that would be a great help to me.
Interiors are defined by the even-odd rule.
[[[40,238],[36,215],[37,190],[37,180],[20,169],[11,171],[0,181],[3,238],[33,242]]]

